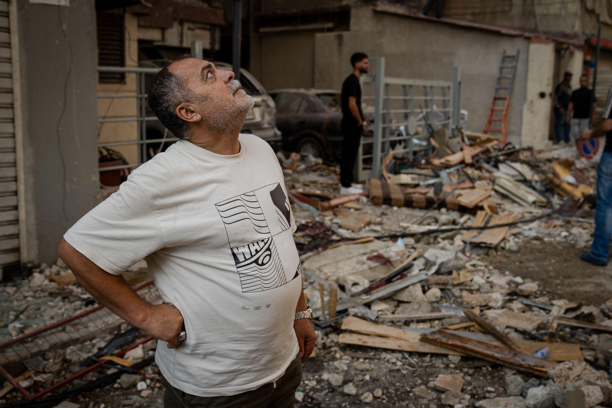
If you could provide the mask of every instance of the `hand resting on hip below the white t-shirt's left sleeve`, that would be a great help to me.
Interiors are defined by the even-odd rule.
[[[149,336],[156,339],[167,341],[168,349],[181,344],[178,336],[183,330],[184,319],[176,306],[162,303],[161,305],[151,305],[146,322],[142,329]]]

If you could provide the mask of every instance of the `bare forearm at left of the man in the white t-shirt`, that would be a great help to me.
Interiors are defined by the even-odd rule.
[[[76,279],[95,300],[119,317],[142,328],[149,316],[149,304],[120,275],[106,272],[62,239],[58,253]]]

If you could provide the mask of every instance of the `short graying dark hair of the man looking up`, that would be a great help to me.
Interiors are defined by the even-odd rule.
[[[189,54],[182,54],[176,61],[191,57]],[[192,100],[192,98],[192,92],[185,86],[183,78],[174,75],[167,67],[155,75],[148,95],[149,107],[155,113],[157,119],[174,136],[184,140],[187,140],[190,136],[187,122],[177,116],[176,108],[181,103]]]

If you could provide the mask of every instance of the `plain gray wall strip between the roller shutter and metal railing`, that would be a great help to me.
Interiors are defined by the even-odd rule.
[[[99,192],[92,180],[97,177],[94,1],[71,1],[70,7],[17,2],[23,115],[18,142],[26,203],[22,234],[27,236],[26,261],[54,262],[64,232],[95,206]]]

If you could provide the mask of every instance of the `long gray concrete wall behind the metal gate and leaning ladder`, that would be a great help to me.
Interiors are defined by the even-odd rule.
[[[461,108],[469,112],[468,128],[481,132],[487,121],[502,51],[520,50],[508,115],[509,141],[520,143],[525,100],[529,39],[461,28],[444,23],[351,10],[351,31],[316,34],[315,87],[340,89],[356,51],[386,57],[386,75],[452,81],[461,68]]]

